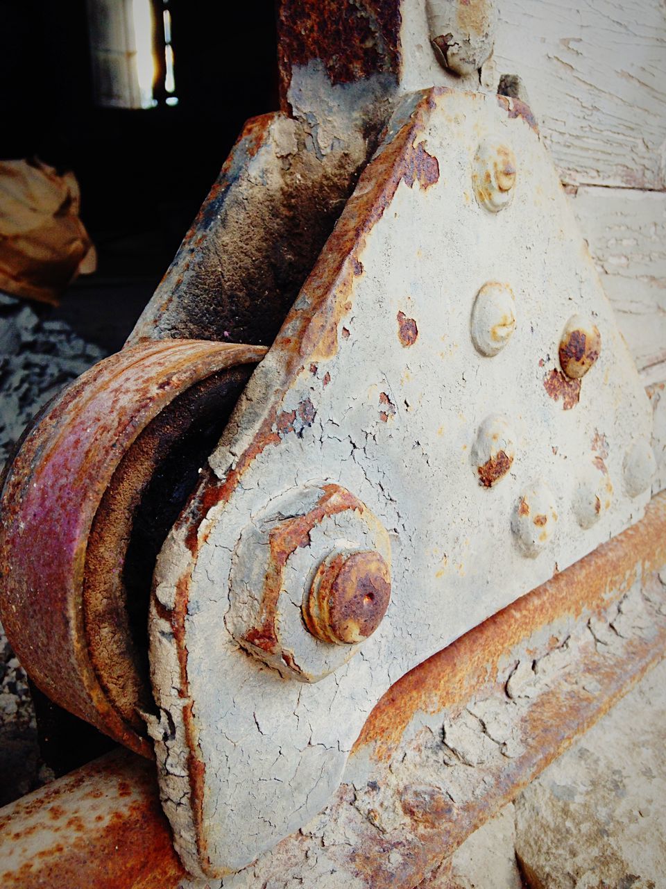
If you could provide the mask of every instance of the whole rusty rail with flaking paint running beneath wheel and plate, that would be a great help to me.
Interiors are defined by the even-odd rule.
[[[289,879],[304,889],[418,885],[663,658],[666,588],[655,578],[663,565],[662,494],[638,525],[393,685],[364,725],[326,810],[225,887]],[[650,627],[627,607],[629,590],[634,603],[642,591],[646,613],[654,613]],[[587,628],[599,637],[606,628],[610,644]],[[524,661],[535,669],[516,669]],[[475,747],[478,765],[460,765],[451,752],[471,759]],[[461,773],[466,791],[452,782]],[[75,838],[63,842],[66,825],[75,825]],[[173,851],[153,769],[129,751],[1,809],[0,861],[6,889],[201,885],[190,884]]]

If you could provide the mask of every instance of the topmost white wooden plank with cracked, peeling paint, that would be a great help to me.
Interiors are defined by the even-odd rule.
[[[562,178],[663,188],[666,5],[503,0],[499,16],[484,80],[522,77]]]

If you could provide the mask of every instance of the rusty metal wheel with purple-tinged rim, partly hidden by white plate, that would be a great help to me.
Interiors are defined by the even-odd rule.
[[[38,687],[144,756],[157,551],[266,349],[123,349],[37,418],[2,492],[2,621]]]

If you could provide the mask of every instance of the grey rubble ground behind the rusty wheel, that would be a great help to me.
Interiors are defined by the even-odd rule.
[[[42,405],[104,357],[64,321],[38,311],[0,292],[0,470]],[[51,777],[39,758],[25,671],[0,624],[0,805]]]

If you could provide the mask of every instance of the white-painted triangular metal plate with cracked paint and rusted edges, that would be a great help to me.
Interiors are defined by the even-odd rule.
[[[480,198],[480,159],[492,201],[511,194],[501,213]],[[470,327],[488,281],[518,306],[492,357]],[[559,370],[572,311],[604,340],[583,380]],[[470,453],[491,412],[509,420],[516,456],[488,486]],[[637,521],[649,493],[618,482],[650,436],[645,391],[524,106],[442,89],[406,98],[156,565],[149,729],[187,869],[240,869],[301,827],[393,682]],[[583,531],[573,504],[590,465],[614,498]],[[304,685],[244,656],[229,609],[250,589],[236,588],[239,529],[313,480],[353,492],[385,527],[392,592],[360,655]],[[292,650],[345,651],[298,630]]]

